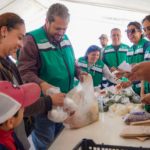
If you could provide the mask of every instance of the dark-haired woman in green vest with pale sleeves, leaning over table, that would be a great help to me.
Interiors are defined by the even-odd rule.
[[[101,49],[96,45],[91,45],[84,57],[80,57],[77,61],[82,71],[91,74],[94,87],[101,87],[103,76],[114,84],[120,84],[123,81],[115,79],[107,65],[100,59]],[[77,85],[79,81],[75,81]],[[104,84],[104,83],[103,83]]]

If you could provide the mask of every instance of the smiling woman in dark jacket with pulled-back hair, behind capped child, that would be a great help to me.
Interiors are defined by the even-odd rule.
[[[4,13],[0,15],[0,80],[7,80],[15,85],[23,84],[19,71],[9,56],[14,55],[17,50],[23,46],[25,34],[25,23],[18,15],[14,13]],[[52,109],[52,104],[63,105],[64,97],[65,94],[58,93],[51,97],[45,96],[39,98],[35,103],[25,108],[24,116],[28,117],[42,113],[46,115],[45,112]],[[14,129],[18,139],[26,150],[30,148],[27,136],[30,135],[33,129],[32,127],[34,127],[34,124],[30,124],[33,123],[31,122],[31,118],[28,117],[28,119],[28,121],[24,119],[24,121]]]

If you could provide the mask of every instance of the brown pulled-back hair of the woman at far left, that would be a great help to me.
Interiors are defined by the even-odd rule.
[[[7,30],[18,29],[18,24],[25,24],[24,20],[14,13],[4,13],[0,15],[0,29],[3,26],[7,27]],[[0,33],[1,38],[1,33]]]

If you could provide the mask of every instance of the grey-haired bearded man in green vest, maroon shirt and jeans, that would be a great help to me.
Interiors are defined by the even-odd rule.
[[[22,79],[25,83],[37,83],[42,95],[53,87],[59,87],[62,93],[67,94],[73,88],[74,76],[82,82],[83,75],[87,75],[75,64],[74,51],[65,34],[69,16],[66,6],[59,3],[51,5],[46,24],[27,33],[20,49],[18,68]],[[47,149],[62,128],[62,123],[48,119],[47,112],[36,115],[32,132],[35,149]]]

